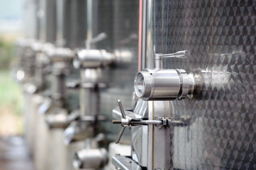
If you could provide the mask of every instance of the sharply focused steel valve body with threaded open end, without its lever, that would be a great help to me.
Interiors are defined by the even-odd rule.
[[[136,95],[145,101],[184,99],[193,88],[193,77],[183,69],[143,69],[134,81]]]

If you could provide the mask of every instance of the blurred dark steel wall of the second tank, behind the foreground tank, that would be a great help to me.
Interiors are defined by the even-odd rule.
[[[108,89],[101,91],[101,110],[107,116],[107,121],[101,123],[106,129],[107,138],[114,141],[119,131],[118,125],[112,121],[112,109],[117,106],[117,99],[125,101],[124,108],[131,108],[133,90],[133,77],[136,74],[138,56],[138,30],[139,30],[139,1],[106,0],[92,1],[92,35],[106,32],[107,38],[94,43],[91,48],[105,49],[110,53],[129,51],[132,60],[126,68],[116,67],[105,69],[103,77],[108,77]],[[129,131],[125,132],[127,139]]]

